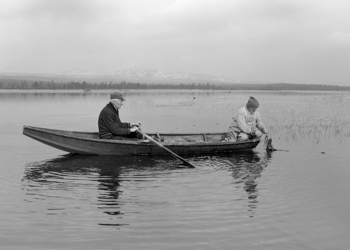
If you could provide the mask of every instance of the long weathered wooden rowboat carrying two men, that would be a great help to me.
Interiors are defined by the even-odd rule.
[[[69,153],[94,155],[157,155],[166,152],[152,142],[120,141],[98,139],[98,132],[76,132],[49,128],[23,126],[23,134],[43,144]],[[147,133],[157,137],[158,133]],[[251,150],[259,138],[248,141],[227,142],[226,133],[161,133],[162,145],[175,154],[232,152]],[[183,139],[191,138],[192,142]],[[222,141],[224,140],[224,141]]]

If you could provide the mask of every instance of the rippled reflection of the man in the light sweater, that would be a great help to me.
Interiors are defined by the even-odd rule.
[[[257,208],[258,184],[256,179],[261,176],[269,159],[271,159],[271,153],[264,153],[264,157],[260,157],[259,153],[254,151],[235,152],[229,159],[229,171],[232,172],[232,177],[238,180],[235,183],[244,183],[244,190],[248,194],[248,203],[251,203],[248,205],[248,211]]]

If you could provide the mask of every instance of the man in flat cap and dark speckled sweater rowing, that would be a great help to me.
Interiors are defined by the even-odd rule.
[[[136,132],[141,122],[122,123],[119,119],[119,111],[125,99],[119,92],[111,94],[111,101],[107,104],[98,117],[98,138],[111,140],[137,141],[142,135]]]

